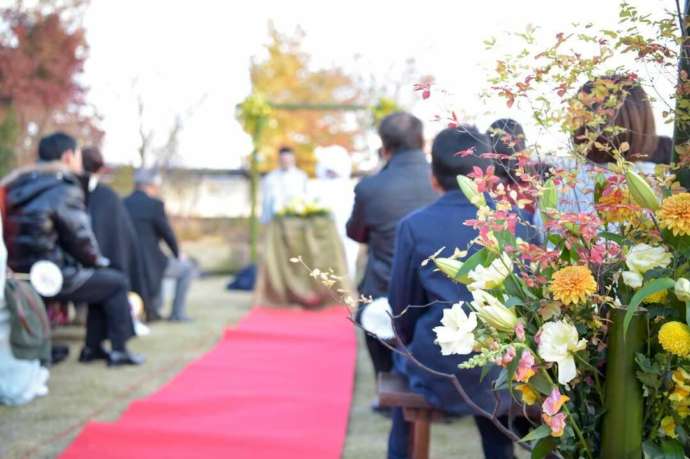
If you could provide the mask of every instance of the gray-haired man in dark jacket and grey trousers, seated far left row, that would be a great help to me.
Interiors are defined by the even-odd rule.
[[[135,174],[134,182],[136,189],[125,199],[125,207],[139,235],[148,292],[153,298],[147,315],[149,320],[161,317],[163,279],[169,277],[176,280],[175,298],[169,320],[187,321],[187,293],[194,278],[194,266],[181,254],[177,238],[165,213],[165,205],[157,198],[161,177],[155,171],[141,169]],[[168,257],[161,250],[161,240],[170,249],[172,257]]]

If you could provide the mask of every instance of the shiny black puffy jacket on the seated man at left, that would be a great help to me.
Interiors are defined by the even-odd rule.
[[[8,265],[29,272],[40,260],[58,265],[64,276],[63,293],[81,286],[89,268],[103,264],[76,176],[61,164],[39,163],[3,180],[4,236]]]

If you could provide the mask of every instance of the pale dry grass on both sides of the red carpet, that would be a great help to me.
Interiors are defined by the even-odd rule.
[[[59,329],[55,339],[70,345],[71,356],[52,369],[47,397],[21,407],[0,406],[0,457],[57,456],[87,421],[113,421],[131,401],[170,381],[187,363],[209,350],[222,330],[236,323],[249,308],[250,295],[226,292],[224,279],[199,280],[190,300],[190,315],[195,321],[155,324],[150,336],[131,342],[133,350],[146,355],[147,363],[115,370],[101,363],[77,363],[83,329]],[[361,336],[357,359],[343,459],[384,458],[390,421],[369,408],[374,398],[374,377]],[[431,457],[481,458],[479,435],[472,420],[434,424]]]

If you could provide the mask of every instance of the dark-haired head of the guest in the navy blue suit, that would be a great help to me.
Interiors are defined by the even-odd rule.
[[[472,154],[461,154],[469,152]],[[441,187],[446,190],[458,188],[458,175],[471,173],[474,167],[486,170],[491,161],[480,157],[491,152],[489,138],[474,126],[460,125],[441,131],[431,147],[431,171]]]

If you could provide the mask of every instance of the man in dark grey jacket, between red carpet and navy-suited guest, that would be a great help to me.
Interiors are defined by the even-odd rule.
[[[422,122],[409,113],[381,121],[379,136],[387,164],[355,187],[355,203],[347,223],[350,239],[369,245],[359,292],[372,298],[388,296],[395,227],[405,215],[438,197],[429,183],[429,163],[422,152]],[[366,336],[376,374],[390,371],[392,355],[377,338]]]

